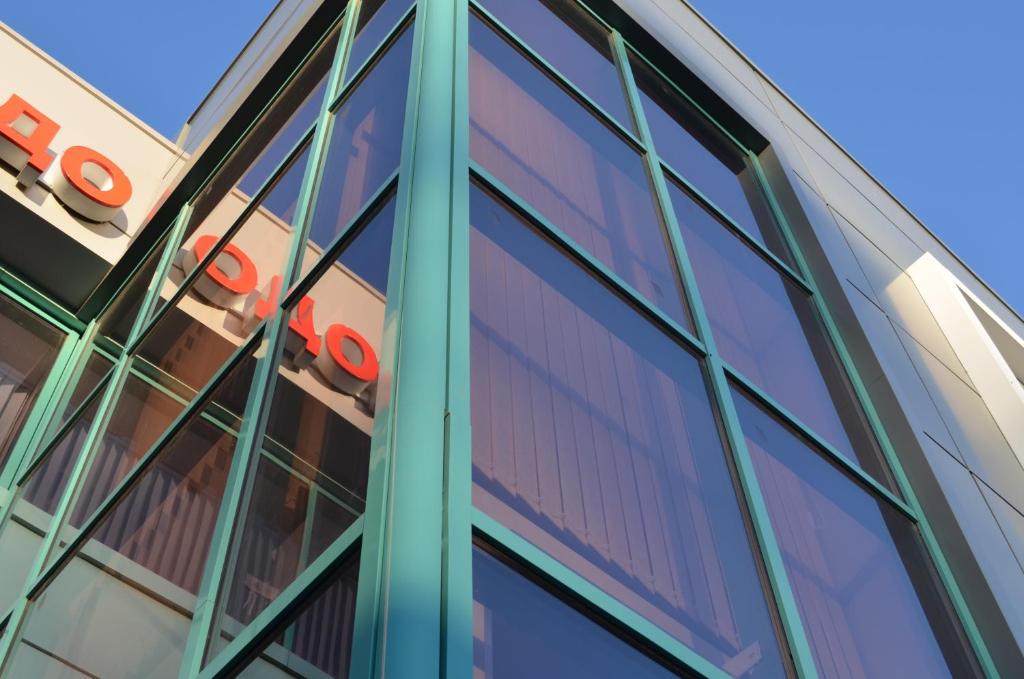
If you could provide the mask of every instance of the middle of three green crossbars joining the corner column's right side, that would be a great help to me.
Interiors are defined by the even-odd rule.
[[[653,303],[648,301],[643,295],[638,293],[633,286],[626,283],[607,264],[590,254],[573,241],[565,231],[553,224],[547,217],[542,215],[534,206],[524,201],[515,192],[509,188],[501,179],[485,170],[476,161],[470,159],[469,171],[473,177],[481,181],[486,187],[495,192],[513,210],[525,217],[534,226],[538,227],[548,238],[560,245],[567,254],[573,257],[585,268],[596,274],[599,279],[608,284],[618,294],[626,297],[630,303],[639,307],[646,315],[660,325],[667,332],[676,339],[681,340],[687,347],[699,355],[705,355],[707,350],[703,343],[693,336],[688,330],[679,325],[677,321],[664,312]]]

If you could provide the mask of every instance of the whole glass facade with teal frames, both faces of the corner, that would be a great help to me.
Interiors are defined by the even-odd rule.
[[[316,16],[4,286],[2,676],[998,676],[763,147],[608,3]]]

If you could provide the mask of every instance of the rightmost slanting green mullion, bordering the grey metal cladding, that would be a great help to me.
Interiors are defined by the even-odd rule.
[[[967,601],[964,598],[963,592],[961,592],[959,586],[956,584],[956,579],[949,567],[949,563],[946,561],[945,555],[942,553],[942,549],[928,522],[928,518],[922,509],[921,503],[918,501],[918,497],[913,492],[912,485],[910,484],[910,479],[907,477],[906,472],[900,463],[899,457],[896,455],[896,450],[886,432],[885,426],[882,424],[882,419],[879,417],[879,413],[874,409],[871,398],[867,393],[867,388],[864,386],[864,382],[860,378],[860,373],[857,371],[853,356],[850,354],[846,343],[843,341],[843,335],[840,333],[839,326],[836,325],[835,320],[828,312],[827,305],[824,303],[824,298],[820,295],[817,286],[814,284],[814,279],[811,277],[811,268],[807,263],[807,259],[804,257],[803,251],[797,243],[796,235],[785,217],[785,213],[782,211],[781,206],[770,189],[770,184],[768,183],[768,178],[764,172],[764,168],[761,167],[761,162],[757,156],[750,152],[749,155],[751,164],[754,167],[755,174],[758,179],[758,183],[761,186],[761,190],[768,200],[768,205],[772,214],[782,231],[782,238],[790,247],[790,251],[793,253],[798,270],[803,274],[810,286],[812,292],[811,297],[814,300],[818,314],[821,316],[822,323],[824,324],[825,332],[828,334],[833,345],[836,347],[836,352],[839,355],[840,363],[846,371],[846,374],[850,378],[850,383],[853,386],[856,398],[863,408],[871,431],[882,448],[886,461],[889,463],[889,468],[892,470],[896,479],[897,489],[906,499],[906,505],[912,511],[912,516],[914,517],[918,527],[921,531],[929,555],[938,570],[939,579],[945,586],[946,593],[949,595],[953,609],[955,610],[961,624],[964,626],[964,632],[967,635],[968,641],[973,647],[985,676],[998,677],[999,673],[995,669],[995,663],[992,661],[992,656],[988,651],[988,647],[981,635],[981,631],[978,629],[978,625],[975,622],[974,616],[971,613],[969,606],[967,605]]]

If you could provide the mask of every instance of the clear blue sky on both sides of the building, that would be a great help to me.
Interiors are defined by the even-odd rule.
[[[693,1],[1024,313],[1024,2]],[[8,2],[0,20],[173,138],[272,5]]]

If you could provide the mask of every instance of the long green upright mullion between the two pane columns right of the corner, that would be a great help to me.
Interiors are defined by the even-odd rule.
[[[672,200],[669,198],[668,180],[663,172],[662,162],[654,150],[650,128],[647,125],[640,101],[640,93],[633,77],[633,71],[630,68],[626,43],[617,31],[612,34],[612,41],[618,59],[618,68],[623,73],[626,90],[636,118],[637,128],[640,130],[640,137],[644,139],[648,148],[645,156],[648,171],[653,182],[657,205],[669,231],[669,241],[675,255],[675,260],[683,279],[684,293],[689,302],[690,312],[693,314],[697,333],[708,348],[708,368],[711,374],[712,392],[717,410],[723,419],[723,428],[728,443],[726,448],[732,453],[733,464],[735,465],[739,484],[746,501],[745,504],[750,512],[754,534],[757,537],[762,561],[767,570],[768,581],[774,594],[776,609],[781,619],[782,631],[788,641],[790,654],[797,673],[802,679],[816,678],[818,672],[814,666],[810,643],[808,642],[803,623],[798,612],[799,608],[793,587],[790,584],[790,578],[785,572],[782,551],[771,526],[768,507],[755,475],[754,463],[746,448],[746,439],[740,428],[735,406],[732,402],[725,372],[718,357],[718,349],[716,348],[715,338],[712,334],[711,321],[705,310],[703,301],[697,289],[696,274],[686,253],[686,246],[683,243],[679,222],[676,220],[675,209],[673,208]]]

